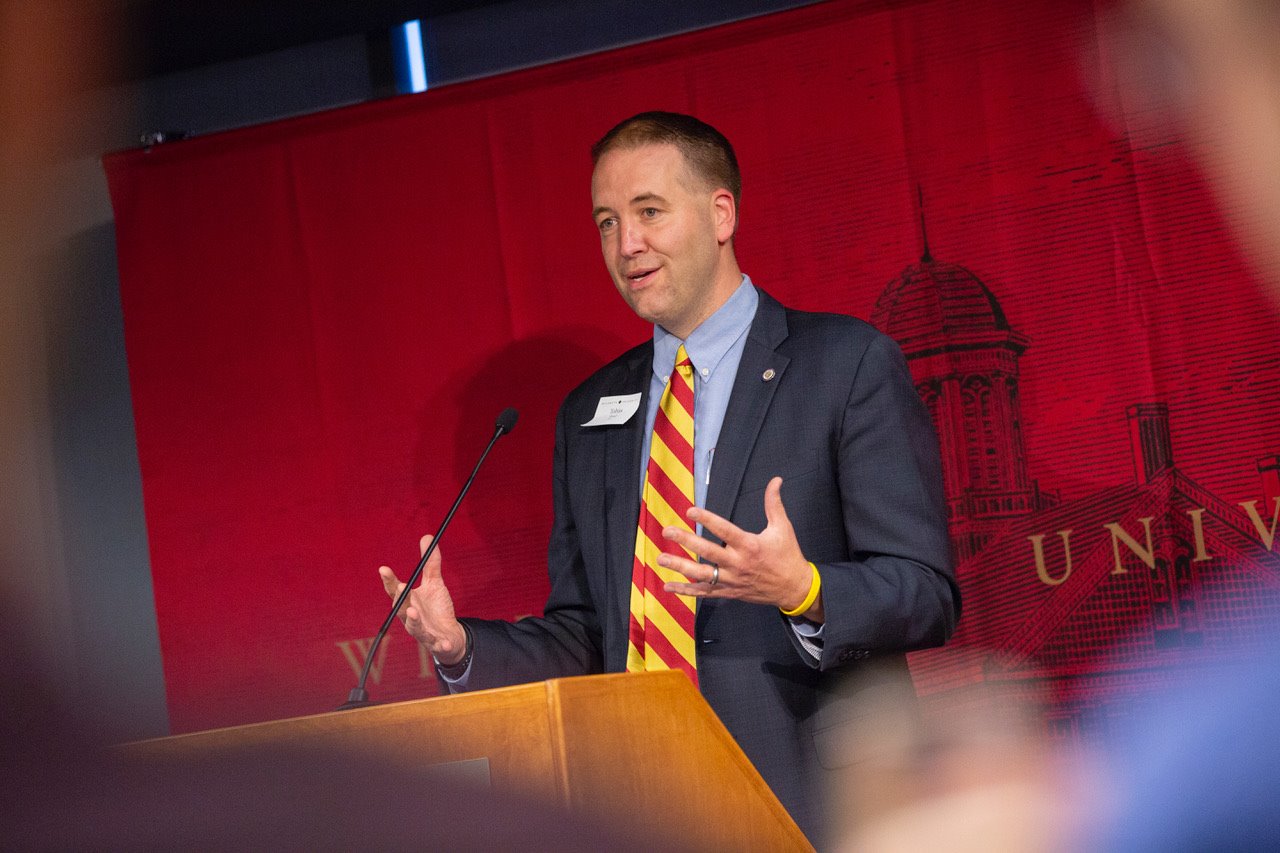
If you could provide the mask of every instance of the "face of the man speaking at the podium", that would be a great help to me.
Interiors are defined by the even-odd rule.
[[[719,307],[733,197],[695,177],[676,146],[604,154],[591,175],[591,206],[604,264],[632,311],[686,338]]]

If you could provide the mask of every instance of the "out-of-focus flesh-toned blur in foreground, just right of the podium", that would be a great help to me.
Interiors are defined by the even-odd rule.
[[[1036,703],[975,684],[946,708],[916,712],[881,684],[851,684],[831,792],[842,853],[1082,849],[1091,811],[1079,756],[1043,738]]]

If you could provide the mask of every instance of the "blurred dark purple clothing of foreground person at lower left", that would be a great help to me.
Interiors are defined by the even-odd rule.
[[[672,849],[356,748],[108,749],[93,710],[41,679],[22,624],[0,599],[0,850]]]

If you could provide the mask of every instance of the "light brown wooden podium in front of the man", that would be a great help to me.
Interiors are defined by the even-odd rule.
[[[189,756],[268,745],[360,749],[412,767],[488,760],[494,792],[550,799],[614,826],[660,816],[664,831],[696,849],[813,849],[676,671],[554,679],[159,738],[127,749]]]

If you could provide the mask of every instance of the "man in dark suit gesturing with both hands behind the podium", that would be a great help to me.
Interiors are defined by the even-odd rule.
[[[561,407],[544,616],[457,620],[439,552],[401,616],[449,689],[628,669],[641,483],[684,348],[696,500],[689,525],[663,529],[658,562],[678,573],[668,592],[698,601],[699,688],[817,839],[823,768],[838,761],[850,707],[840,676],[876,661],[909,684],[902,653],[955,625],[937,441],[892,341],[785,309],[739,270],[740,178],[718,131],[646,113],[593,156],[605,265],[654,338]],[[381,576],[398,594],[392,570]]]

